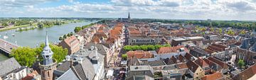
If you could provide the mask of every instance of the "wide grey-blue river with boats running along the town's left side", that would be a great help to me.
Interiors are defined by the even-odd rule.
[[[87,25],[96,21],[87,21],[82,23],[69,23],[65,25],[54,25],[50,28],[34,29],[34,30],[23,30],[16,32],[15,30],[6,30],[0,32],[0,38],[4,39],[4,36],[8,37],[4,40],[16,44],[22,47],[36,47],[40,45],[46,39],[46,31],[48,32],[49,42],[59,42],[58,38],[67,33],[73,32],[77,26]],[[0,53],[0,61],[8,59]]]

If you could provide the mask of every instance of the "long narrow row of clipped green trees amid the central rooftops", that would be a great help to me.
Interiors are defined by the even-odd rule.
[[[166,44],[166,45],[125,45],[123,49],[125,51],[131,51],[131,50],[149,51],[149,50],[157,50],[160,47],[171,47],[171,45],[170,44]]]

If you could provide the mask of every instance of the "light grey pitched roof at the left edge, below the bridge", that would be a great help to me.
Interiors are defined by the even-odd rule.
[[[4,74],[14,71],[15,69],[18,69],[20,67],[21,67],[21,65],[18,64],[18,62],[16,61],[16,59],[14,59],[14,57],[11,57],[10,59],[1,61],[0,62],[0,76],[3,76]]]

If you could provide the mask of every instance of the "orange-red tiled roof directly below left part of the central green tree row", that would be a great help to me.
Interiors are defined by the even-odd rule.
[[[138,59],[154,57],[152,53],[144,52],[143,50],[129,51],[127,52],[127,56],[128,58],[137,57]]]

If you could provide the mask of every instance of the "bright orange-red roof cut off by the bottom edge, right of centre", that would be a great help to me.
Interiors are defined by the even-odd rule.
[[[201,79],[202,80],[223,79],[223,74],[221,74],[221,72],[215,72],[214,74],[209,74],[209,75],[203,76]]]

